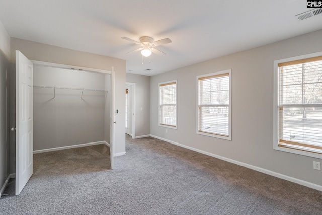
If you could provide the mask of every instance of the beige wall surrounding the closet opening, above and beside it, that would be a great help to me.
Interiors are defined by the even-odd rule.
[[[115,71],[115,109],[118,109],[118,114],[115,115],[115,120],[118,122],[115,125],[115,153],[122,154],[125,152],[125,60],[76,51],[57,46],[32,42],[28,40],[22,40],[17,38],[11,38],[11,61],[15,62],[15,51],[21,51],[30,60],[38,60],[51,63],[59,63],[66,65],[81,66],[87,68],[95,68],[111,71],[112,66]],[[14,67],[14,66],[12,66]],[[14,69],[13,69],[14,70]],[[15,71],[11,71],[11,75],[14,76]],[[12,78],[14,80],[14,78]],[[13,84],[14,85],[14,84]],[[12,85],[11,85],[12,86]],[[14,87],[11,87],[14,91]],[[12,92],[11,92],[12,93]],[[14,94],[12,94],[14,95]],[[124,98],[124,99],[119,99]],[[14,98],[13,98],[14,99]],[[11,101],[11,110],[14,109],[14,102]],[[11,116],[14,114],[11,113]],[[14,121],[11,120],[12,123]],[[11,139],[11,146],[14,146],[14,138]],[[13,158],[14,155],[11,155]],[[14,160],[11,161],[11,172],[14,172]]]

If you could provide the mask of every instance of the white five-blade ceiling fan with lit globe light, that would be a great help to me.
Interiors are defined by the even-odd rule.
[[[121,37],[121,38],[122,39],[125,39],[127,41],[130,41],[132,43],[135,43],[137,45],[141,45],[142,47],[140,47],[138,49],[135,49],[133,51],[130,51],[128,53],[135,52],[135,51],[141,51],[141,54],[144,57],[150,56],[152,54],[152,51],[153,50],[157,50],[157,51],[159,51],[159,52],[161,52],[163,54],[166,54],[165,52],[160,51],[159,49],[157,49],[155,47],[156,46],[159,46],[159,45],[164,45],[164,44],[167,44],[167,43],[171,43],[172,42],[169,38],[165,38],[165,39],[157,40],[157,41],[153,42],[153,38],[152,37],[148,37],[148,36],[140,37],[140,42],[137,42],[135,40],[132,40],[132,39],[130,39],[128,37]]]

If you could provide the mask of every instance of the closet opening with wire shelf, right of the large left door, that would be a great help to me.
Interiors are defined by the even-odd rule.
[[[112,169],[112,72],[33,63],[34,174]]]

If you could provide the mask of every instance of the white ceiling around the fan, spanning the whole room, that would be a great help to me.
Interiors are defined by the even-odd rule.
[[[305,0],[0,0],[0,21],[11,37],[125,59],[151,76],[322,29],[322,14],[295,19],[308,10]],[[142,65],[123,36],[172,43]]]

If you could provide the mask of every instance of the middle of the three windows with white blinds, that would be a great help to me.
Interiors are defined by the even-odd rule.
[[[231,69],[197,77],[197,133],[231,140]]]

